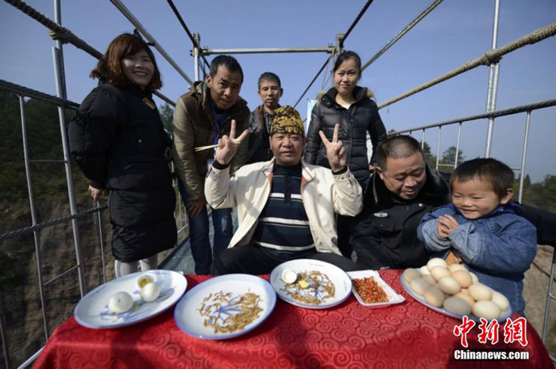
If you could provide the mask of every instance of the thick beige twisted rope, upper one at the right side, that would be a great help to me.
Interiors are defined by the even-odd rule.
[[[504,46],[499,47],[498,49],[487,51],[486,53],[484,53],[484,55],[480,56],[479,58],[469,60],[464,65],[461,65],[456,69],[448,71],[447,73],[439,77],[436,77],[433,80],[423,83],[423,85],[419,85],[414,89],[410,89],[409,91],[404,92],[401,95],[395,96],[394,98],[391,98],[389,101],[386,101],[385,103],[378,105],[378,108],[379,109],[384,108],[385,106],[391,105],[396,101],[402,100],[402,98],[406,98],[408,96],[416,94],[417,92],[423,91],[423,89],[427,89],[429,87],[437,85],[445,80],[448,80],[452,77],[462,74],[465,71],[469,71],[473,68],[479,67],[480,65],[491,65],[493,63],[499,62],[500,58],[502,58],[502,55],[510,53],[525,45],[530,45],[545,40],[546,38],[552,37],[555,34],[556,34],[556,22],[553,22],[548,26],[539,28],[533,31],[532,33],[529,33],[528,35],[525,35],[523,37],[518,38],[517,40],[509,42]]]

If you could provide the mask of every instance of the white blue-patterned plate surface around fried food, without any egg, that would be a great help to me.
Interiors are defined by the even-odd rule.
[[[210,302],[214,302],[212,300],[213,296],[220,291],[222,291],[222,293],[231,293],[231,300],[235,299],[235,301],[245,293],[255,293],[261,298],[258,306],[262,311],[259,312],[259,316],[255,318],[252,323],[247,324],[241,330],[231,333],[215,332],[213,327],[205,327],[204,323],[206,318],[200,314],[199,309],[201,309],[202,306],[206,307],[206,304],[210,304]],[[206,302],[205,299],[209,295],[211,295],[211,299]],[[276,293],[272,289],[272,286],[262,278],[247,274],[220,275],[220,277],[214,277],[197,284],[197,286],[188,291],[176,305],[174,320],[179,329],[190,336],[220,340],[250,332],[268,318],[275,305]],[[213,310],[213,314],[220,314],[220,316],[233,316],[238,312],[239,309],[237,304],[227,304],[224,307]],[[223,320],[222,317],[220,317],[220,319]]]

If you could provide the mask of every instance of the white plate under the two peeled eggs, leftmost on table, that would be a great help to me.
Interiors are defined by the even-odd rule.
[[[144,302],[137,289],[137,280],[145,274],[153,277],[161,288],[161,294],[152,302]],[[186,287],[186,278],[174,271],[155,269],[124,275],[101,284],[83,296],[74,309],[75,320],[84,327],[96,329],[117,328],[139,323],[172,307],[186,291]],[[133,297],[133,307],[125,313],[116,314],[108,309],[108,300],[114,293],[120,291],[127,292]]]

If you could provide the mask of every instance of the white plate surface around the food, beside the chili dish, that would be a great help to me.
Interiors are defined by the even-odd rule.
[[[322,301],[322,304],[318,305],[293,300],[293,298],[286,293],[286,282],[281,279],[282,272],[285,269],[290,269],[295,273],[319,271],[320,273],[327,275],[330,282],[334,284],[334,297],[326,298]],[[336,306],[348,298],[352,291],[352,280],[350,280],[350,277],[345,273],[345,271],[342,271],[337,266],[329,264],[325,261],[313,259],[297,259],[280,264],[272,270],[272,273],[270,273],[270,284],[272,284],[272,287],[274,287],[276,293],[278,293],[282,300],[289,302],[290,304],[294,304],[295,306],[306,307],[309,309],[326,309],[328,307]],[[306,291],[309,293],[310,289],[306,289]]]

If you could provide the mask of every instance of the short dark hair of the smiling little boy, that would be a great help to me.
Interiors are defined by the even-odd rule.
[[[498,198],[504,198],[514,187],[514,171],[506,164],[491,158],[477,158],[463,162],[454,169],[450,186],[454,182],[468,182],[477,178],[489,182]]]

